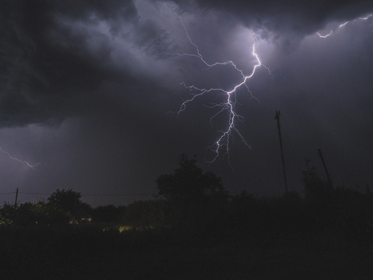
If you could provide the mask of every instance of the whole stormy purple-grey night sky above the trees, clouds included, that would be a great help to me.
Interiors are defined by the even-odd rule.
[[[2,0],[0,193],[153,193],[182,153],[231,194],[281,193],[276,110],[289,190],[302,192],[305,158],[324,176],[318,148],[335,186],[372,189],[372,13],[372,0]],[[229,154],[221,147],[213,163],[208,147],[229,126],[227,110],[210,121],[221,110],[213,104],[243,80],[232,65],[206,69],[187,34],[207,64],[232,61],[245,76],[256,43],[272,73],[257,67],[233,93],[235,127],[250,147],[232,132]],[[192,85],[221,91],[178,115],[198,93]],[[150,198],[82,196],[93,206]]]

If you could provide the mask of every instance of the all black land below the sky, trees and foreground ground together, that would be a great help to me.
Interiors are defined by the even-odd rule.
[[[92,208],[79,192],[0,208],[4,279],[373,279],[373,194],[307,165],[304,197],[231,196],[195,158],[155,200]],[[85,210],[92,222],[74,213]],[[347,276],[347,278],[346,278]]]

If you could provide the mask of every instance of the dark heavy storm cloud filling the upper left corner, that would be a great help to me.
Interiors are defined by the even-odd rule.
[[[117,77],[106,67],[108,36],[94,34],[92,52],[93,35],[65,24],[99,20],[115,35],[123,22],[136,22],[137,11],[132,1],[1,1],[0,126],[53,123],[80,114],[84,100]]]

